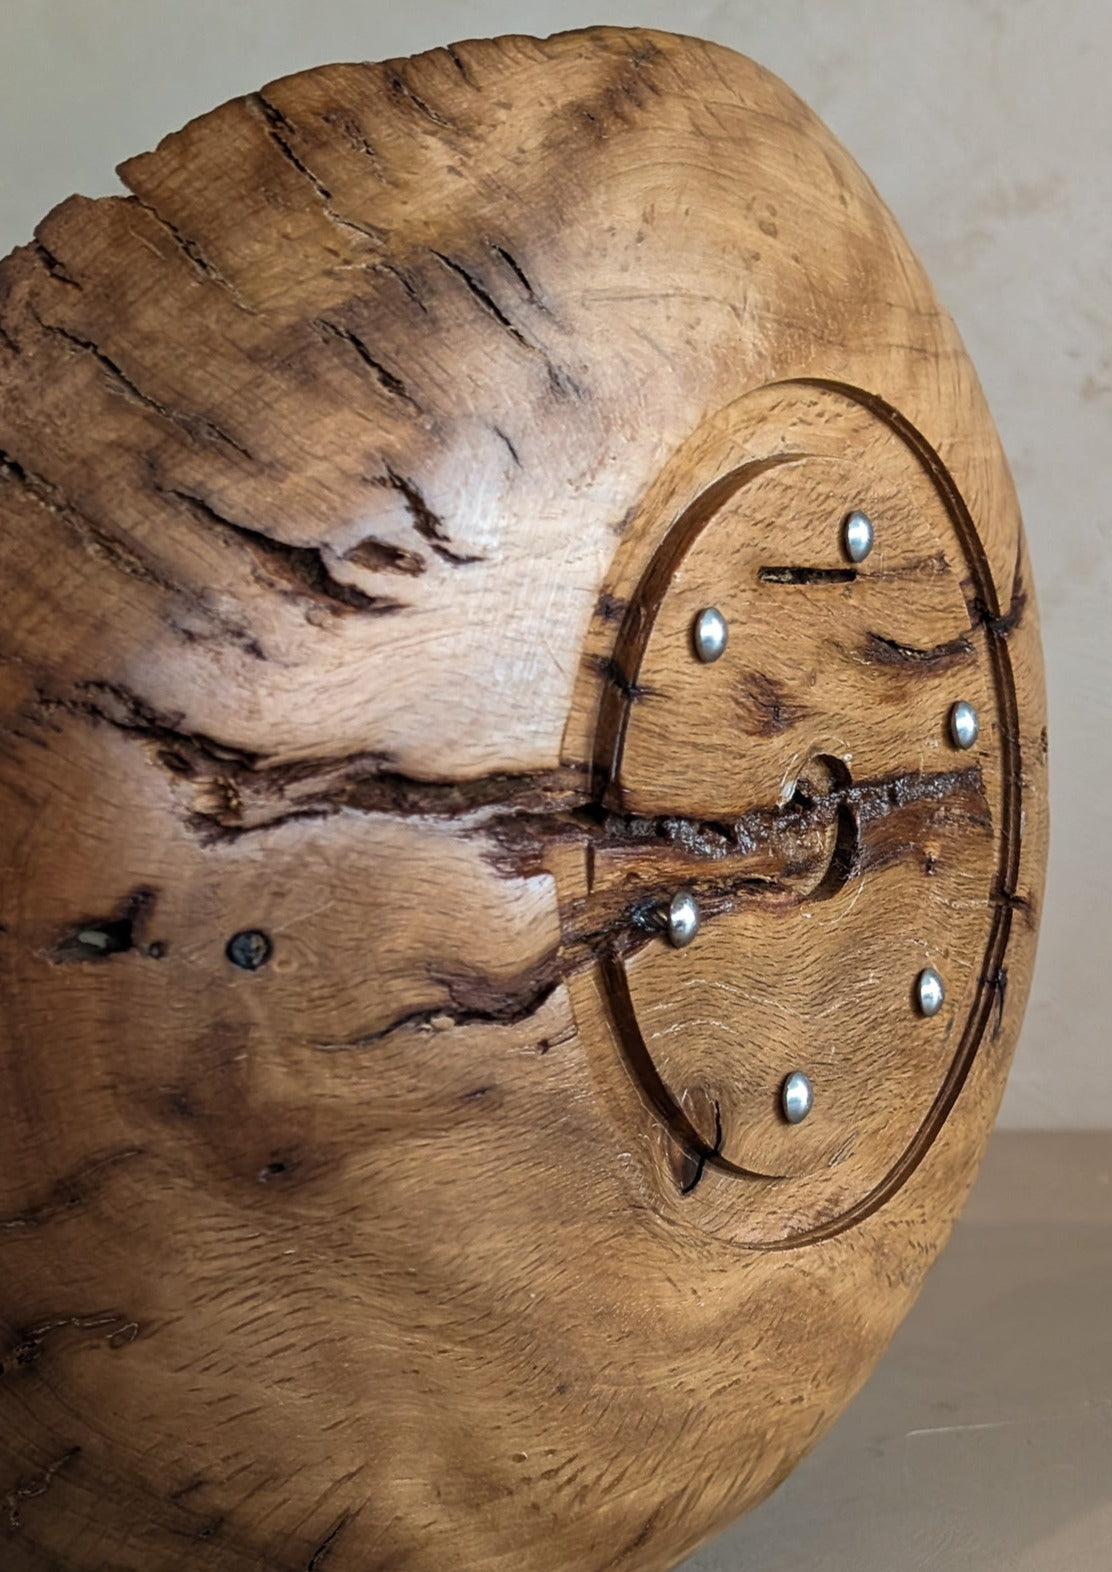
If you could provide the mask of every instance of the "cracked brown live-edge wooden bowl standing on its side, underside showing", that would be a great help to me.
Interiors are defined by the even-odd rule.
[[[977,377],[694,39],[308,71],[121,173],[0,272],[0,1564],[672,1567],[868,1374],[1024,1009]]]

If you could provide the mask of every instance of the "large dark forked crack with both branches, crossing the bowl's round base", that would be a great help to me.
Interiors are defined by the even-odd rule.
[[[565,898],[560,943],[517,979],[486,973],[436,978],[433,997],[388,1023],[326,1050],[366,1050],[401,1030],[516,1025],[535,1016],[576,971],[612,964],[654,942],[654,912],[678,887],[706,918],[739,902],[821,901],[846,880],[900,861],[930,877],[939,833],[991,835],[978,766],[796,791],[739,816],[626,813],[593,794],[585,766],[428,781],[374,753],[274,762],[192,731],[129,690],[85,684],[64,698],[39,695],[39,711],[75,715],[135,737],[181,786],[187,822],[203,843],[263,835],[340,813],[451,821],[473,836],[505,877],[550,876],[554,858],[584,858],[584,888]],[[599,868],[609,879],[596,879]],[[628,877],[623,872],[628,869]],[[88,924],[87,924],[88,926]],[[80,940],[80,935],[79,935]]]

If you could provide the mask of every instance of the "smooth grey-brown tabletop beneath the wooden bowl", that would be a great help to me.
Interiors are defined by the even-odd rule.
[[[997,1132],[845,1418],[681,1572],[1107,1572],[1112,1132]]]

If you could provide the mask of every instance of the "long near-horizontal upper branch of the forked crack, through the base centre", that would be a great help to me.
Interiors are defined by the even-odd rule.
[[[801,792],[785,805],[753,808],[736,817],[646,816],[604,806],[591,795],[590,772],[582,764],[436,781],[398,772],[373,751],[274,764],[186,728],[181,715],[157,712],[120,684],[82,684],[66,698],[39,692],[38,707],[46,714],[83,715],[151,745],[154,762],[192,789],[189,824],[206,843],[343,811],[470,821],[506,876],[543,872],[558,844],[574,843],[595,854],[653,847],[667,852],[676,869],[698,872],[705,898],[720,902],[744,893],[794,898],[801,872],[813,871],[816,854],[813,846],[807,849],[808,836],[837,830],[845,814],[857,825],[856,863],[846,874],[881,866],[892,857],[919,857],[919,841],[939,816],[958,816],[969,828],[991,828],[985,783],[975,764],[884,777],[815,795]],[[879,827],[890,821],[897,821],[895,828],[882,833]],[[727,863],[739,866],[727,869]],[[716,865],[722,865],[717,876]],[[632,909],[624,921],[635,923]]]

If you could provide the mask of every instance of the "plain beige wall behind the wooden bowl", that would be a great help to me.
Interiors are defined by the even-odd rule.
[[[1112,1126],[1112,5],[1107,0],[2,0],[0,255],[237,93],[332,60],[591,22],[782,75],[958,319],[1024,503],[1054,832],[1011,1126]]]

